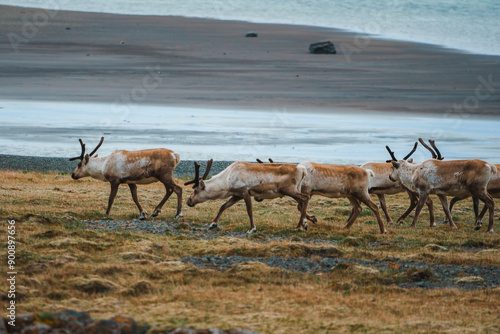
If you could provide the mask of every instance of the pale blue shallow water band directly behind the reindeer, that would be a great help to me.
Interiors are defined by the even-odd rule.
[[[173,149],[183,160],[362,164],[406,155],[418,137],[434,138],[448,159],[500,162],[500,118],[449,118],[382,112],[229,111],[160,106],[0,101],[0,154],[70,157],[105,137],[115,149]],[[416,161],[430,158],[423,148]]]

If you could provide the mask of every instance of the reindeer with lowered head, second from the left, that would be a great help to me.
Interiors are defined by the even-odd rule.
[[[216,228],[222,213],[238,201],[244,200],[250,218],[250,230],[247,233],[257,231],[252,213],[252,196],[260,199],[273,199],[277,197],[290,196],[299,203],[301,207],[300,220],[297,229],[304,226],[309,197],[300,192],[300,186],[306,170],[294,164],[252,164],[243,161],[233,162],[225,170],[206,180],[212,160],[207,163],[207,168],[200,179],[200,165],[194,163],[195,177],[184,185],[193,184],[194,192],[187,200],[190,207],[208,200],[229,198],[220,209],[208,229]]]

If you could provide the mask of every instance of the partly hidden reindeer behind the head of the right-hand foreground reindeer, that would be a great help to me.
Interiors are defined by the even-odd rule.
[[[418,143],[415,143],[413,149],[409,154],[406,155],[406,157],[403,158],[403,160],[408,160],[408,158],[416,151],[418,146]],[[387,148],[387,147],[386,147]],[[392,155],[393,152],[389,151],[389,153]],[[412,159],[408,160],[410,163],[413,162]],[[375,174],[375,177],[370,179],[370,188],[368,189],[368,192],[370,194],[375,194],[378,197],[380,207],[382,208],[382,211],[385,214],[385,218],[387,220],[388,225],[393,225],[394,223],[392,222],[391,216],[389,215],[389,212],[387,211],[387,204],[385,201],[385,195],[395,195],[399,194],[401,192],[406,191],[408,193],[408,196],[410,197],[410,207],[401,215],[401,217],[398,218],[396,221],[396,225],[400,225],[403,223],[403,221],[408,217],[408,215],[415,209],[418,203],[418,195],[407,188],[405,188],[401,182],[392,182],[389,179],[389,175],[392,172],[392,164],[391,160],[388,160],[386,162],[367,162],[361,166],[362,168],[365,169],[370,169],[373,171]],[[429,214],[430,214],[430,221],[431,224],[435,225],[435,220],[434,220],[434,205],[432,202],[432,199],[427,198],[427,201],[425,202],[429,209]]]

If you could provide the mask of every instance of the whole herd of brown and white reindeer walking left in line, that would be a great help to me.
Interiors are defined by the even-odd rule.
[[[156,206],[152,216],[161,212],[162,206],[172,193],[177,195],[177,213],[175,219],[182,216],[182,187],[174,181],[173,172],[180,161],[179,154],[164,148],[125,151],[116,150],[108,156],[94,156],[102,145],[104,137],[90,154],[85,154],[85,144],[79,139],[81,154],[70,160],[80,160],[71,174],[75,180],[90,176],[100,181],[109,182],[111,192],[109,195],[106,215],[111,212],[114,199],[120,184],[128,184],[132,199],[139,209],[140,218],[147,218],[147,212],[139,203],[137,197],[137,184],[161,182],[165,186],[165,196]],[[375,214],[380,233],[387,233],[377,205],[371,200],[370,194],[375,194],[385,214],[387,224],[393,221],[387,211],[385,195],[407,192],[410,206],[396,221],[396,225],[403,223],[404,219],[415,209],[413,222],[415,227],[424,205],[429,209],[430,227],[436,226],[434,219],[433,202],[429,195],[434,194],[439,198],[452,229],[457,226],[453,222],[450,211],[459,201],[472,197],[475,212],[475,229],[481,228],[481,220],[489,213],[487,232],[493,232],[494,206],[493,197],[500,198],[500,165],[473,160],[443,161],[441,152],[435,142],[429,140],[427,145],[421,138],[419,142],[432,155],[432,158],[422,163],[415,163],[410,156],[416,151],[418,142],[412,151],[403,159],[398,160],[394,152],[386,146],[391,160],[386,162],[368,162],[361,167],[346,165],[325,165],[314,162],[299,164],[258,163],[237,161],[225,170],[207,180],[213,159],[207,162],[207,167],[200,178],[200,165],[195,162],[195,176],[192,181],[184,185],[193,185],[193,193],[187,200],[190,207],[209,200],[227,199],[219,209],[209,229],[217,228],[222,213],[235,203],[243,200],[250,219],[250,230],[257,230],[253,219],[252,197],[257,201],[289,196],[297,202],[300,212],[297,230],[307,230],[308,221],[316,223],[314,215],[307,213],[307,205],[313,195],[329,198],[346,197],[352,205],[352,211],[347,219],[345,228],[350,228],[361,213],[361,203],[365,204]],[[447,196],[454,196],[448,207]],[[484,203],[484,208],[479,213],[479,201]]]

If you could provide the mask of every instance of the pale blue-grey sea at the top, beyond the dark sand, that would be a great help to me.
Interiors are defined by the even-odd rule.
[[[500,55],[499,0],[0,0],[0,4],[342,28]]]

